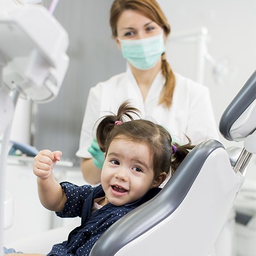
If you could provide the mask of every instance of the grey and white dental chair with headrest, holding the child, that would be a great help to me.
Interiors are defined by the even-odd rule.
[[[256,72],[220,120],[224,138],[245,141],[234,166],[223,144],[216,140],[200,143],[182,161],[163,190],[114,223],[89,255],[209,255],[245,180],[246,165],[256,153],[255,98]],[[53,240],[49,242],[54,244]],[[29,245],[35,243],[29,241]],[[24,243],[23,248],[15,248],[24,250]],[[33,252],[39,253],[38,249]]]

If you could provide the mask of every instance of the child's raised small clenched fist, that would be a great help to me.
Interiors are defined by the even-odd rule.
[[[57,161],[61,160],[61,151],[40,151],[34,159],[33,173],[41,180],[46,180],[52,175],[52,170]]]

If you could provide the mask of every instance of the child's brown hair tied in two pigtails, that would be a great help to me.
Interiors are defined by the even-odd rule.
[[[139,110],[133,108],[129,101],[125,101],[116,115],[103,117],[96,131],[101,151],[108,152],[113,139],[127,139],[143,143],[150,148],[155,177],[161,172],[168,174],[170,170],[173,174],[194,146],[190,144],[190,141],[184,146],[173,143],[172,137],[163,126],[148,120],[134,120],[138,114]]]

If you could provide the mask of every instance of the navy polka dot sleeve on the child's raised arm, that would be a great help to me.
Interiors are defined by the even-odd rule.
[[[59,217],[81,217],[83,203],[92,193],[93,187],[89,185],[76,186],[69,182],[62,182],[61,187],[67,200],[62,211],[56,212],[56,215]]]

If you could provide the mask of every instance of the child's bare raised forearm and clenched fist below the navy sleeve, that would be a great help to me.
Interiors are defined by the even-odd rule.
[[[42,150],[35,156],[33,165],[41,204],[48,210],[57,212],[62,210],[67,200],[53,175],[53,167],[61,156],[61,151]]]

